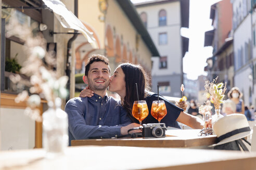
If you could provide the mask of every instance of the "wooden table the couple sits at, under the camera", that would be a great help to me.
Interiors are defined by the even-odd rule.
[[[216,144],[216,136],[198,136],[200,130],[168,130],[165,138],[112,138],[72,140],[71,146],[200,147]]]

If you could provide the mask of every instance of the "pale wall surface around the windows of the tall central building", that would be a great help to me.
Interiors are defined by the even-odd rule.
[[[136,6],[136,4],[135,4]],[[180,86],[182,83],[182,38],[181,38],[181,5],[179,1],[159,3],[145,6],[136,6],[139,15],[142,12],[147,14],[147,30],[152,37],[160,56],[167,57],[167,67],[160,68],[159,58],[152,60],[152,90],[157,92],[157,85],[160,83],[170,84],[163,86],[167,91],[161,91],[164,95],[180,97]],[[167,12],[167,24],[159,26],[159,11],[164,9]],[[159,44],[159,34],[167,33],[167,44]],[[169,86],[169,87],[168,87]],[[170,90],[171,89],[171,90]]]

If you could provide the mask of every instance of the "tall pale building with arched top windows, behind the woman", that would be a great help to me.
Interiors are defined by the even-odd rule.
[[[166,96],[180,97],[183,83],[183,56],[188,38],[181,27],[188,27],[189,1],[150,1],[135,4],[153,39],[160,58],[152,58],[152,90]]]

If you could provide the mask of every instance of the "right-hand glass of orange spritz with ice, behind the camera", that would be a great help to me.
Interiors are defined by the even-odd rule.
[[[167,115],[167,109],[164,101],[153,101],[151,107],[151,115],[160,123],[163,117]]]

